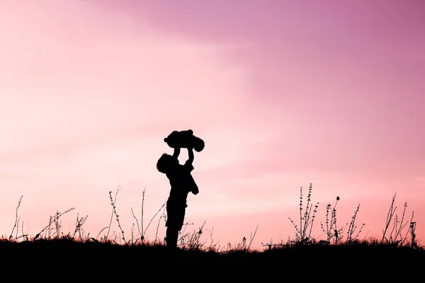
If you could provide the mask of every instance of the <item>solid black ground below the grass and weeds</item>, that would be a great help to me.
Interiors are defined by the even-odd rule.
[[[421,281],[425,270],[424,249],[389,245],[308,245],[262,252],[217,253],[62,240],[0,241],[0,255],[4,275],[11,272],[16,279],[34,275],[30,279],[47,282],[84,278],[94,278],[96,282],[104,278],[111,282],[133,277],[131,281],[143,281],[152,274],[157,279],[176,277],[196,281],[233,278],[261,282],[312,279],[406,282],[410,278]],[[6,282],[6,277],[3,278]]]

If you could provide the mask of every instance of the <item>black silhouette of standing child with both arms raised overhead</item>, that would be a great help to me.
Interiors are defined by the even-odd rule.
[[[181,165],[179,163],[180,148],[174,148],[174,154],[162,154],[157,162],[157,170],[164,173],[171,185],[169,198],[166,201],[166,246],[177,247],[179,231],[183,226],[186,213],[186,199],[188,193],[198,195],[198,185],[191,175],[193,171],[193,149],[188,148],[188,160]]]

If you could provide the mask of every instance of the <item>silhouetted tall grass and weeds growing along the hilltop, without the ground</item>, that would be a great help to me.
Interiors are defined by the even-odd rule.
[[[35,236],[30,236],[23,229],[23,221],[18,214],[18,209],[21,207],[23,196],[18,200],[18,204],[15,211],[15,221],[13,228],[8,237],[2,236],[1,243],[21,243],[21,242],[35,242],[35,241],[52,241],[52,240],[69,240],[79,243],[108,243],[114,246],[165,246],[165,239],[159,236],[159,226],[164,224],[166,221],[166,203],[159,207],[158,211],[152,216],[145,227],[145,190],[142,192],[142,205],[140,219],[135,216],[133,209],[131,208],[132,216],[134,217],[137,227],[132,224],[130,229],[130,236],[125,236],[125,231],[120,223],[120,215],[117,209],[117,198],[121,188],[118,187],[115,194],[112,191],[109,192],[109,199],[111,203],[111,219],[108,226],[101,229],[96,237],[91,237],[90,233],[84,232],[84,224],[86,223],[88,216],[79,216],[75,221],[75,227],[72,231],[64,233],[62,231],[62,219],[64,214],[72,212],[75,208],[65,210],[64,212],[57,211],[55,214],[49,217],[47,225],[40,230]],[[220,246],[215,243],[213,238],[213,230],[206,229],[204,223],[198,227],[198,229],[191,229],[193,223],[186,223],[183,225],[183,229],[179,232],[178,245],[181,250],[191,251],[202,251],[208,253],[217,254],[229,254],[229,253],[260,253],[267,250],[278,250],[282,248],[293,248],[297,246],[392,246],[397,248],[410,248],[416,250],[423,250],[422,246],[416,241],[416,221],[414,221],[414,213],[408,218],[407,217],[407,202],[404,202],[401,216],[397,215],[397,205],[395,204],[396,195],[392,197],[390,209],[387,213],[387,219],[385,220],[384,229],[382,229],[382,238],[370,239],[369,241],[359,240],[359,236],[363,230],[365,224],[357,224],[356,218],[360,210],[360,204],[354,209],[353,216],[350,221],[346,221],[345,225],[340,225],[341,219],[337,217],[337,207],[341,201],[340,197],[336,197],[334,204],[327,204],[324,214],[324,221],[319,222],[319,228],[322,230],[322,236],[314,238],[312,236],[313,226],[317,224],[317,210],[319,202],[313,202],[312,200],[312,184],[308,187],[306,200],[303,194],[303,188],[300,187],[300,203],[299,203],[299,219],[294,221],[290,217],[288,219],[293,224],[295,229],[295,236],[288,238],[288,241],[281,243],[270,243],[263,244],[265,250],[252,249],[251,243],[254,241],[258,230],[258,224],[254,233],[251,232],[249,241],[246,237],[242,237],[242,241],[235,245],[227,243],[225,246]],[[146,238],[147,229],[151,226],[154,219],[157,219],[156,233],[153,240]],[[115,220],[118,226],[118,232],[113,231],[113,221]],[[338,220],[338,221],[337,221]],[[21,234],[19,234],[21,229]],[[101,236],[103,231],[106,233]]]

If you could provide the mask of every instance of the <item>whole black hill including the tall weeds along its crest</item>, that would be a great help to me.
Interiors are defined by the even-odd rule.
[[[134,280],[132,275],[137,274],[142,278],[145,277],[145,273],[142,276],[140,272],[149,274],[154,270],[159,278],[167,276],[181,278],[183,275],[200,272],[197,275],[199,280],[222,279],[222,276],[229,279],[226,276],[230,274],[234,279],[244,278],[243,281],[255,279],[262,282],[276,281],[276,276],[291,280],[295,277],[299,281],[307,279],[382,281],[387,278],[403,282],[421,276],[425,266],[425,249],[416,241],[416,222],[413,220],[413,213],[411,218],[405,216],[407,205],[404,205],[401,216],[395,213],[395,196],[388,210],[382,238],[359,240],[358,236],[363,225],[360,227],[356,225],[358,210],[354,212],[350,224],[345,227],[336,226],[335,207],[339,197],[336,197],[333,206],[327,205],[327,220],[322,224],[324,237],[312,238],[310,231],[314,225],[317,204],[312,202],[311,195],[310,184],[304,203],[301,189],[300,219],[297,219],[297,224],[291,220],[295,238],[288,239],[285,243],[264,245],[261,250],[250,248],[250,243],[249,241],[247,243],[245,238],[242,243],[233,247],[219,247],[212,243],[210,246],[205,245],[200,241],[202,227],[199,231],[181,233],[179,248],[176,250],[167,248],[163,241],[147,241],[143,236],[145,229],[141,229],[137,236],[128,240],[124,237],[124,231],[116,215],[112,195],[112,216],[115,215],[115,221],[118,222],[121,232],[115,233],[114,239],[108,236],[100,238],[84,236],[81,227],[86,217],[77,217],[76,227],[72,233],[62,233],[60,217],[72,209],[51,216],[49,224],[35,236],[18,235],[20,200],[11,235],[0,238],[2,259],[0,267],[4,276],[6,272],[14,272],[16,277],[40,273],[42,274],[40,276],[45,277],[48,274],[50,277],[55,273],[61,278],[66,275],[65,279],[93,276],[96,277],[96,281],[99,281],[100,277],[105,277],[108,281],[112,278],[123,281],[124,277]],[[111,221],[112,219],[113,217]],[[22,272],[16,273],[17,266],[22,267]],[[170,271],[176,268],[180,269],[178,273]],[[58,278],[55,281],[60,280]]]

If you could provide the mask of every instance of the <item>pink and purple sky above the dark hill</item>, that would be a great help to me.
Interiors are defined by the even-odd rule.
[[[26,233],[76,207],[64,231],[78,213],[96,236],[118,186],[130,235],[143,190],[145,225],[168,197],[155,167],[172,152],[164,137],[193,129],[205,149],[186,231],[206,221],[222,245],[257,224],[254,246],[293,237],[288,217],[312,183],[314,235],[339,196],[339,225],[360,203],[360,236],[382,236],[397,192],[397,212],[407,201],[421,239],[424,9],[419,0],[1,1],[0,235],[23,195]]]

